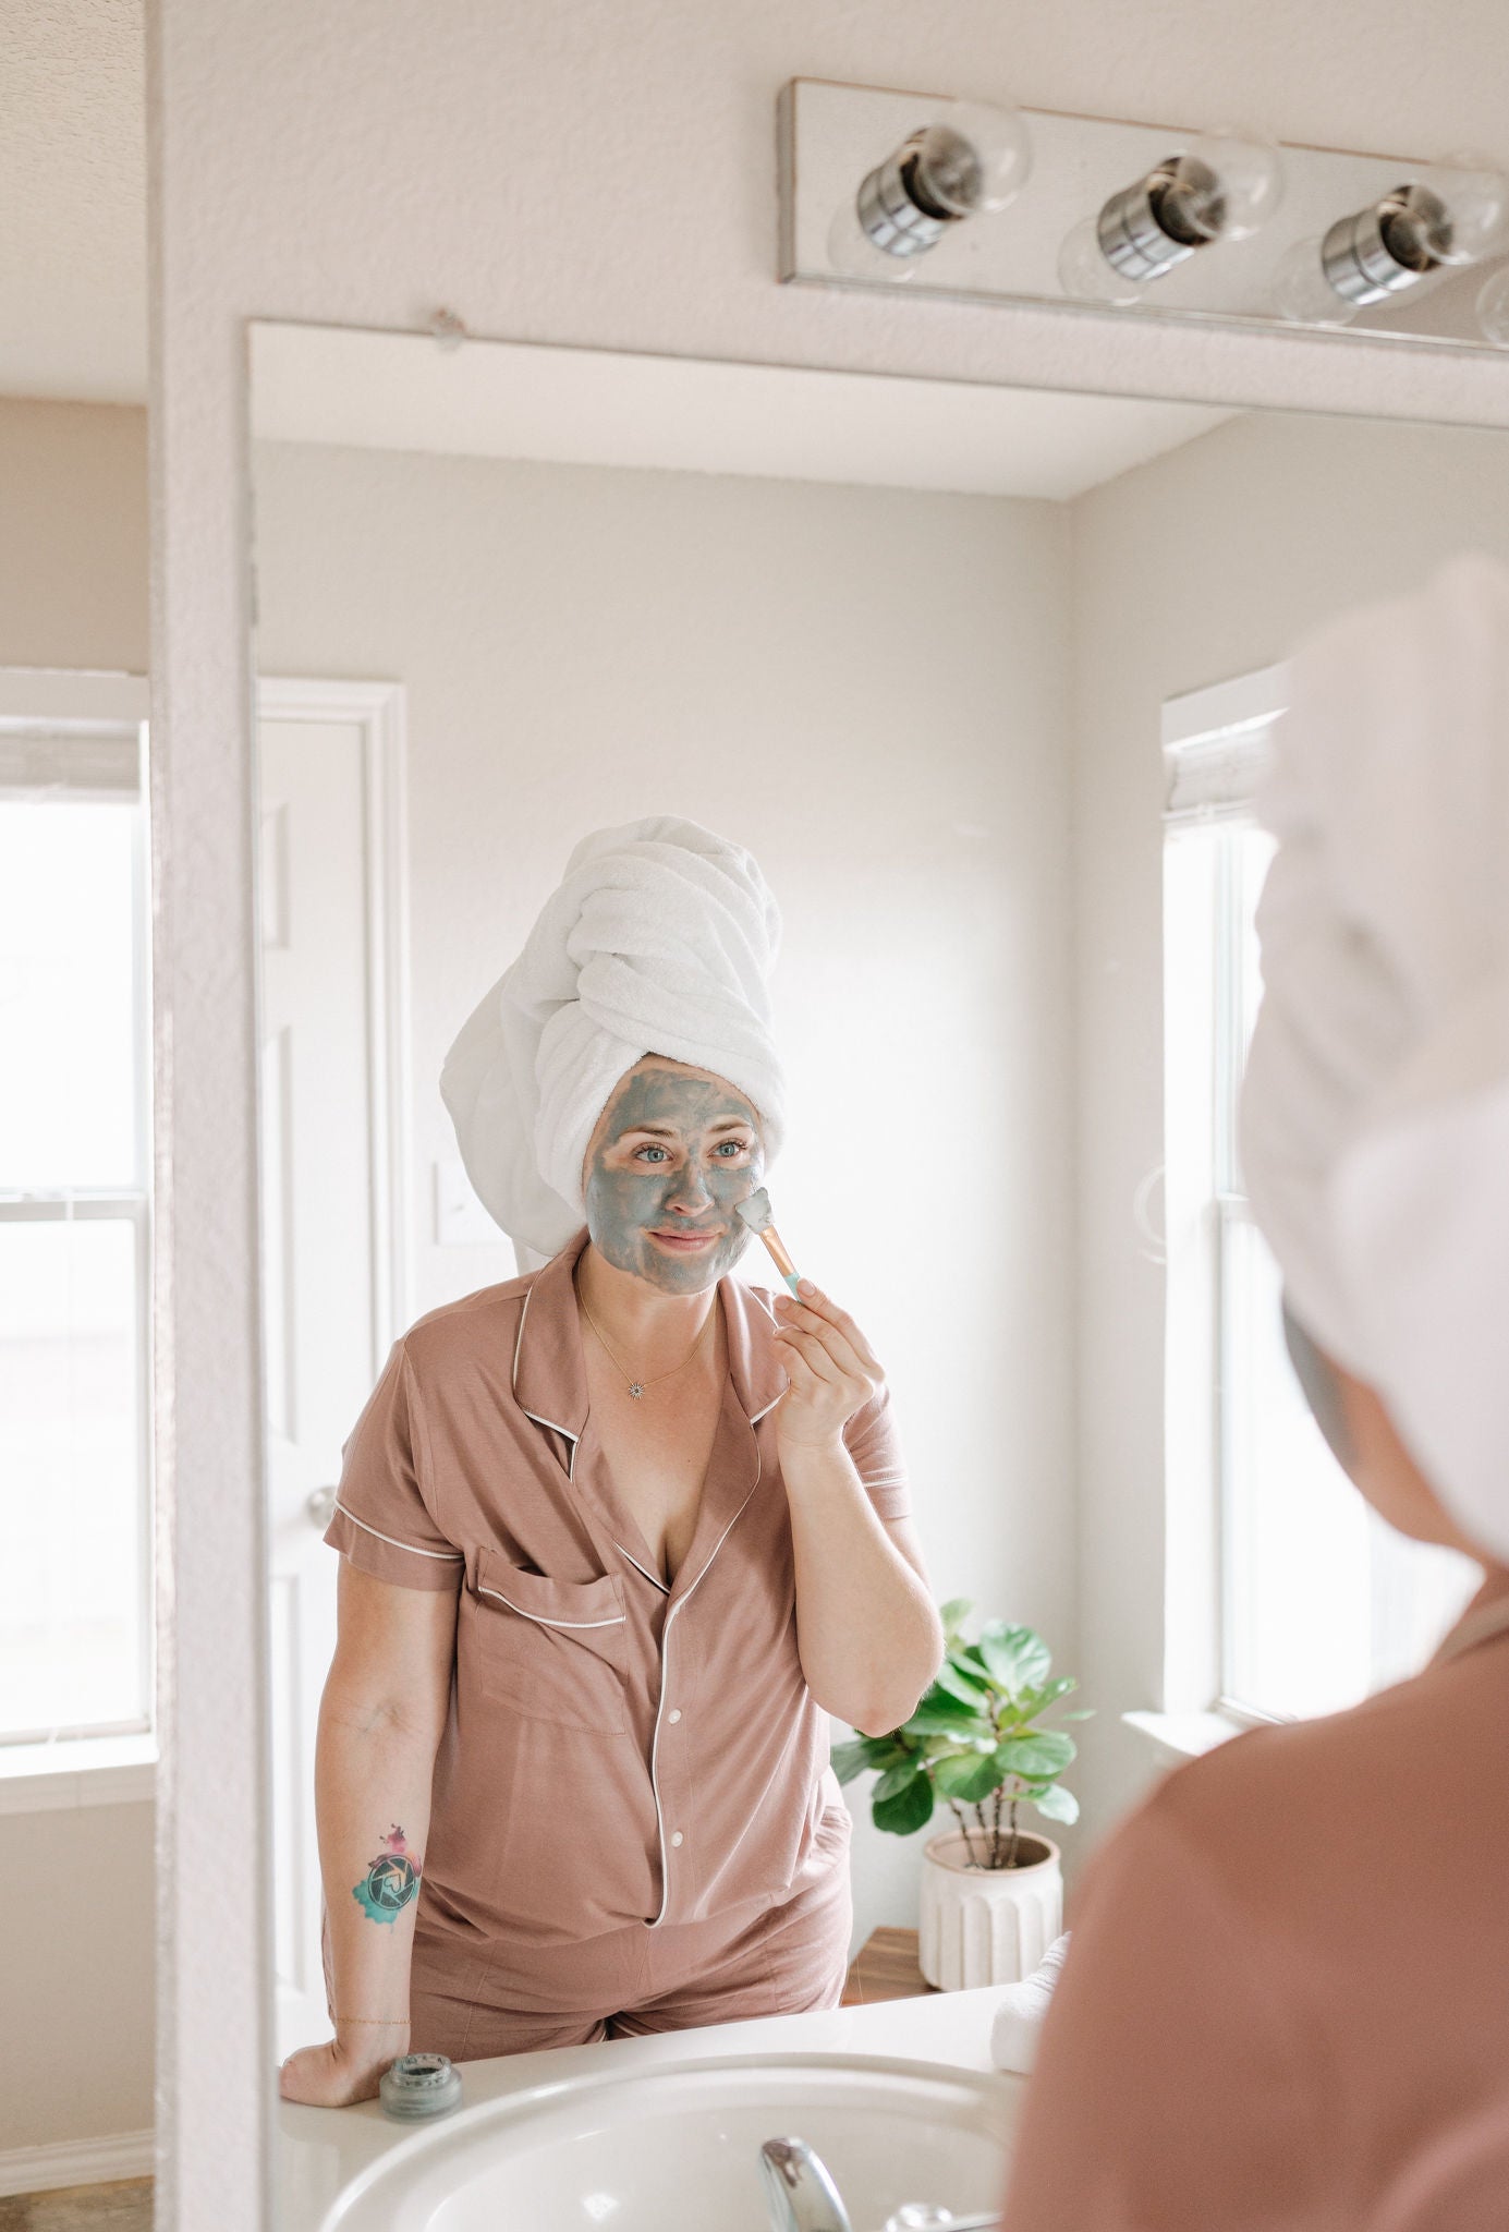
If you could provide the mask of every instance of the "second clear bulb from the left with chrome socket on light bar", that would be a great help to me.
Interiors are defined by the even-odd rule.
[[[1080,301],[1134,304],[1201,248],[1246,241],[1284,199],[1266,141],[1210,134],[1105,201],[1063,243],[1058,279]]]

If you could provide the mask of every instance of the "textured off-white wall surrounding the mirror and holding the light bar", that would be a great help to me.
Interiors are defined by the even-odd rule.
[[[772,283],[772,103],[792,74],[935,85],[1290,138],[1509,156],[1507,31],[1368,0],[1056,9],[902,0],[156,0],[154,676],[165,1634],[163,2221],[259,2221],[266,1902],[225,1911],[263,1812],[248,922],[243,346],[252,315],[1221,402],[1509,417],[1502,364],[1304,337],[850,301]],[[172,1402],[167,1399],[172,1397]],[[210,1984],[210,1978],[214,1980]]]

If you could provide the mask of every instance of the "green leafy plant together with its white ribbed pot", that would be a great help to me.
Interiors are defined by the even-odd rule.
[[[1063,1870],[1058,1846],[1025,1830],[1020,1815],[1031,1806],[1047,1821],[1078,1819],[1058,1781],[1074,1736],[1042,1725],[1074,1676],[1049,1674],[1047,1643],[1031,1627],[989,1620],[967,1643],[969,1612],[967,1598],[942,1605],[944,1661],[911,1721],[833,1748],[842,1783],[880,1774],[875,1828],[911,1837],[938,1803],[953,1815],[955,1826],[924,1848],[917,1931],[922,1975],[942,1991],[1031,1975],[1063,1928]]]

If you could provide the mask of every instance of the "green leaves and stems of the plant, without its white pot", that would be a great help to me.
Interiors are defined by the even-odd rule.
[[[971,1868],[1016,1868],[1022,1806],[1047,1821],[1078,1819],[1078,1801],[1058,1781],[1074,1761],[1074,1736],[1042,1728],[1045,1714],[1078,1685],[1071,1674],[1049,1674],[1047,1643],[1031,1627],[989,1620],[980,1641],[967,1643],[971,1609],[964,1596],[940,1607],[944,1661],[911,1721],[886,1736],[835,1743],[833,1770],[842,1783],[866,1772],[880,1777],[871,1790],[875,1828],[911,1837],[942,1801],[960,1826]]]

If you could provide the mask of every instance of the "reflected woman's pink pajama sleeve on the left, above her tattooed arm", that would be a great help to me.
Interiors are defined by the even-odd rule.
[[[464,1560],[435,1518],[422,1444],[420,1395],[400,1341],[346,1442],[326,1542],[400,1589],[455,1589]]]

